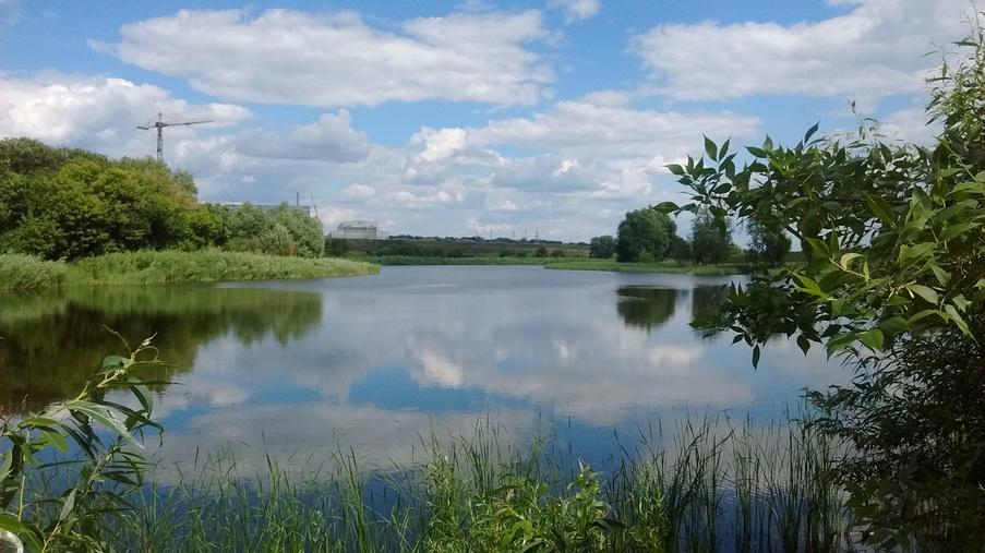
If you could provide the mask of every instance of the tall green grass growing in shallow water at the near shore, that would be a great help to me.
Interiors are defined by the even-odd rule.
[[[659,426],[658,426],[659,429]],[[827,477],[837,448],[796,421],[685,418],[622,442],[599,472],[549,432],[479,421],[420,438],[412,467],[369,471],[338,450],[308,472],[226,450],[167,472],[113,526],[129,551],[842,551],[850,518]],[[311,468],[311,465],[314,465]]]

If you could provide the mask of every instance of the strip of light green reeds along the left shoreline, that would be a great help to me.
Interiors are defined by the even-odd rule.
[[[325,278],[379,271],[380,267],[371,263],[349,260],[281,257],[219,250],[111,253],[72,263],[0,255],[0,289]]]

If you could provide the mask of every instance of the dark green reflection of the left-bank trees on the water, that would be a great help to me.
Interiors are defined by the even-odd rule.
[[[212,287],[70,289],[61,294],[0,297],[0,413],[40,408],[79,392],[112,352],[156,334],[169,365],[149,380],[188,371],[197,347],[231,334],[251,344],[267,334],[286,345],[322,318],[312,292]]]

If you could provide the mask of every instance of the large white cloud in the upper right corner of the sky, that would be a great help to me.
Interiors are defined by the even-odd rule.
[[[658,89],[678,100],[756,94],[876,100],[920,93],[933,44],[966,31],[965,0],[853,0],[850,11],[792,25],[714,21],[662,24],[630,50],[652,71]]]

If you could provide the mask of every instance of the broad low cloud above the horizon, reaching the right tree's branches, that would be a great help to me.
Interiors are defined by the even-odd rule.
[[[645,194],[675,159],[700,147],[701,133],[752,136],[760,121],[728,111],[634,109],[610,93],[561,101],[529,117],[480,128],[422,129],[408,158],[410,182],[433,181],[467,167],[494,188],[592,193],[592,197]],[[604,101],[598,101],[598,99]],[[500,149],[521,148],[506,156]]]

